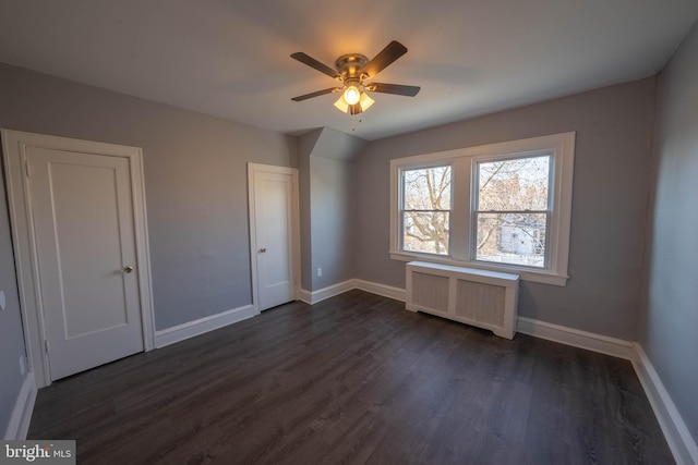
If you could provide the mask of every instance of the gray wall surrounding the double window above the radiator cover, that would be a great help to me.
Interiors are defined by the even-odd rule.
[[[370,143],[357,166],[357,277],[405,286],[405,264],[387,254],[392,158],[576,131],[571,278],[524,282],[519,315],[634,340],[654,95],[647,78]]]

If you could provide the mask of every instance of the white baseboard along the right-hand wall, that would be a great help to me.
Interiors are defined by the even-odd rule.
[[[678,465],[698,464],[696,440],[690,436],[686,423],[664,388],[654,366],[640,344],[635,343],[633,348],[634,356],[630,362],[662,427],[674,460]]]

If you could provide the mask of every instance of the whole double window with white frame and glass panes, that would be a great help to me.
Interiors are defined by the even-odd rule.
[[[390,161],[394,259],[567,280],[575,133]]]

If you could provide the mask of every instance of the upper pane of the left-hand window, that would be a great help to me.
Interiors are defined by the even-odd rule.
[[[449,210],[450,167],[406,170],[404,176],[404,210]]]

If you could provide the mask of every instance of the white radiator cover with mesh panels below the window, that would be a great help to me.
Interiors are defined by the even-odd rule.
[[[424,311],[489,329],[513,339],[518,313],[517,274],[410,261],[407,302],[411,311]]]

